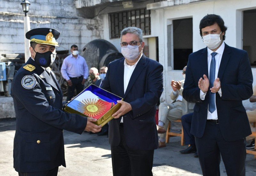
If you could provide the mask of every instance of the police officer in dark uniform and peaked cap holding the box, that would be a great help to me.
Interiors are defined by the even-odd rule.
[[[99,132],[96,119],[62,111],[62,92],[49,66],[56,56],[60,32],[36,28],[26,33],[31,57],[12,81],[16,113],[13,162],[19,175],[56,176],[65,164],[63,130]]]

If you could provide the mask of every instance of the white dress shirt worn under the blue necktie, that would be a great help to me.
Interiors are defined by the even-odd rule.
[[[215,78],[214,80],[218,77],[218,73],[219,73],[219,68],[220,68],[220,61],[223,55],[223,51],[225,48],[225,43],[222,42],[222,44],[220,45],[220,48],[218,48],[218,50],[216,50],[215,52],[217,52],[217,54],[215,55],[215,61],[216,61],[216,68],[215,68]],[[210,50],[209,48],[207,48],[207,61],[208,61],[208,75],[210,75],[210,66],[211,66],[211,60],[212,60],[212,50]],[[208,78],[209,79],[209,78]],[[218,93],[220,94],[221,97],[221,88],[218,91]],[[204,93],[203,91],[200,90],[200,99],[204,100],[206,95],[206,92]],[[213,111],[212,113],[209,111],[209,105],[208,105],[208,112],[207,112],[207,119],[213,119],[213,120],[217,120],[218,119],[218,114],[217,114],[217,106],[216,106],[216,97],[214,96],[215,99],[215,111]]]

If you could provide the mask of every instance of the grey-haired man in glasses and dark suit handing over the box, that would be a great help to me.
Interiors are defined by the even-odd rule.
[[[123,58],[108,65],[102,88],[124,101],[109,122],[113,175],[153,175],[154,149],[158,148],[156,103],[163,92],[163,66],[143,54],[142,30],[121,32]]]

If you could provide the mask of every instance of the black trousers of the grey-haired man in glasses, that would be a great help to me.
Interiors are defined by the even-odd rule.
[[[134,150],[127,146],[124,127],[120,128],[120,144],[111,146],[113,176],[152,176],[154,150]]]

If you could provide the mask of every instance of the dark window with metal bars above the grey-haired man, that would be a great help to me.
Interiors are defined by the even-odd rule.
[[[126,27],[141,28],[144,35],[151,34],[150,10],[137,9],[110,13],[111,38],[119,38]]]

